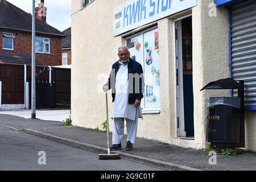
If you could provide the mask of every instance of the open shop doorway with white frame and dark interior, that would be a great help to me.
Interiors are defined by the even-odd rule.
[[[175,21],[177,137],[193,139],[192,16]]]

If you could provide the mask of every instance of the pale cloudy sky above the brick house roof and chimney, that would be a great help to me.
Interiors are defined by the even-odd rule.
[[[32,0],[7,0],[20,9],[32,14]],[[40,0],[35,1],[35,7]],[[57,30],[64,31],[71,27],[71,0],[44,0],[47,8],[46,23]]]

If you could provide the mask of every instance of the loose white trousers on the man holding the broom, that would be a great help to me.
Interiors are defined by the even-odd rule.
[[[135,117],[135,120],[127,118],[113,118],[113,133],[112,133],[112,144],[119,144],[123,138],[123,132],[125,129],[126,121],[126,132],[127,132],[127,141],[135,143],[138,127],[138,117]]]

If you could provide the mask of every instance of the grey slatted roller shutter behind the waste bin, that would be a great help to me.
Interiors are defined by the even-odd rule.
[[[232,8],[231,47],[232,77],[245,80],[245,106],[256,106],[256,1]]]

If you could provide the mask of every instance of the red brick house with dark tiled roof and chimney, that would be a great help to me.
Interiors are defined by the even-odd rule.
[[[61,65],[61,39],[63,32],[46,23],[44,1],[35,9],[36,13],[36,64]],[[31,64],[32,16],[8,1],[0,5],[0,62],[24,64],[17,57],[26,57]],[[9,59],[6,59],[9,57]]]

